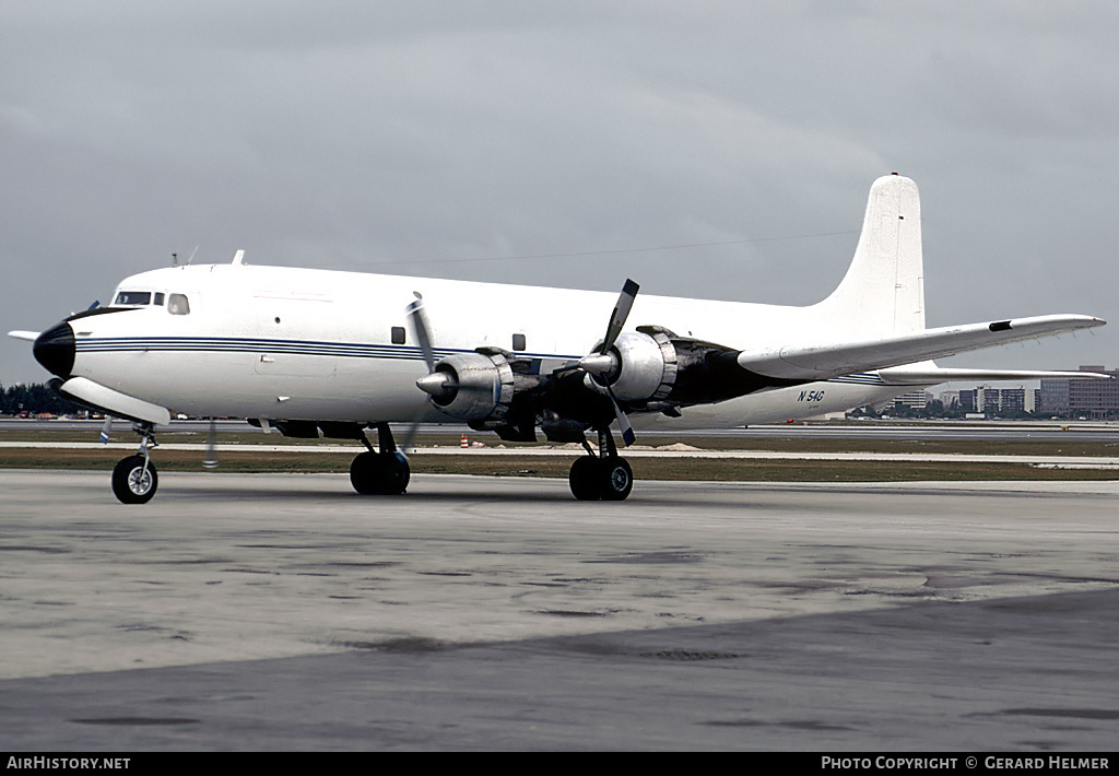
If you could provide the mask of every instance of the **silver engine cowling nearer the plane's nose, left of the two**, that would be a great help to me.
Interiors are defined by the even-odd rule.
[[[431,401],[452,418],[496,424],[508,414],[515,385],[513,367],[501,353],[457,353],[435,364],[433,374],[448,380]]]

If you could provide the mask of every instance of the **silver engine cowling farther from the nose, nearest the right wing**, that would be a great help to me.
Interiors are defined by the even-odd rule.
[[[609,385],[623,402],[659,401],[673,392],[678,359],[666,333],[620,334],[606,356],[612,362],[606,372],[586,375],[591,390],[604,392],[603,385]]]

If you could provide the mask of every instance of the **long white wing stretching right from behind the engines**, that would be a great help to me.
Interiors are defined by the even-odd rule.
[[[742,368],[767,377],[817,381],[856,372],[887,370],[995,345],[1103,326],[1106,322],[1091,316],[1078,315],[1016,318],[924,329],[864,342],[742,350],[737,355],[737,363]],[[1075,374],[1085,376],[1085,373]],[[960,378],[963,376],[966,375]],[[952,378],[956,377],[938,376],[931,382]]]

